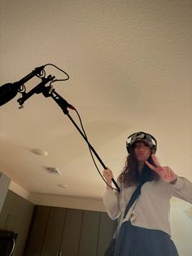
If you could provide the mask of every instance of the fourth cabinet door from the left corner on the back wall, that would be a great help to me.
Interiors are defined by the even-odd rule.
[[[99,215],[98,212],[84,211],[78,256],[97,256]]]

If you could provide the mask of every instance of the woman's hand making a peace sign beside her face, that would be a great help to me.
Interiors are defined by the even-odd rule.
[[[155,157],[155,155],[151,155],[153,161],[155,162],[155,166],[152,166],[151,163],[145,161],[146,166],[149,166],[151,170],[155,170],[157,174],[159,174],[160,178],[168,183],[175,183],[177,181],[177,174],[168,167],[168,166],[160,166],[159,161]]]

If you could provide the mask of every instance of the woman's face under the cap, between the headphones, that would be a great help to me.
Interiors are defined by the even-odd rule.
[[[138,162],[145,162],[151,156],[151,148],[142,141],[134,145],[134,153]]]

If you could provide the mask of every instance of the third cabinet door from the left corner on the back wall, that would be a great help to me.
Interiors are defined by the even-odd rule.
[[[63,228],[61,253],[67,256],[77,256],[81,236],[83,210],[68,209]]]

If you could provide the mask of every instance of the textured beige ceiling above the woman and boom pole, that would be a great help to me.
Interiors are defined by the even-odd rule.
[[[162,165],[192,179],[190,0],[0,2],[1,84],[56,64],[70,80],[55,90],[81,113],[90,143],[115,178],[126,138],[144,130],[158,140]],[[51,67],[46,74],[63,77]],[[42,95],[19,110],[19,97],[0,108],[1,170],[28,192],[102,197],[105,185],[68,117]],[[38,157],[33,148],[50,155]],[[45,166],[62,176],[50,176]]]

